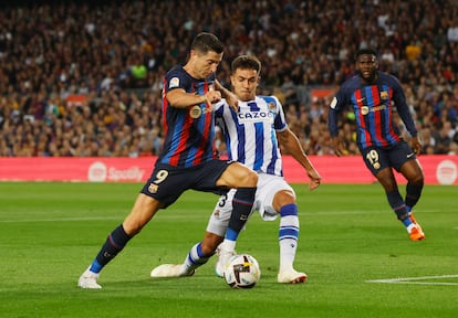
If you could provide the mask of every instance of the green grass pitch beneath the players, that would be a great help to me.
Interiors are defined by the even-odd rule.
[[[379,184],[294,184],[301,285],[277,283],[278,221],[256,214],[238,251],[260,263],[253,289],[230,289],[215,258],[194,277],[152,279],[202,237],[217,197],[186,192],[102,272],[102,290],[76,287],[106,235],[131,210],[135,183],[0,183],[1,317],[456,317],[457,187],[427,186],[416,209],[426,239],[410,242]],[[404,188],[404,187],[403,187]],[[420,283],[420,284],[419,284]]]

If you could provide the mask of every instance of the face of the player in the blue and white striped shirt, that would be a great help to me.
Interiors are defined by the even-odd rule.
[[[258,88],[259,74],[256,70],[237,68],[230,76],[233,94],[242,102],[253,100]]]

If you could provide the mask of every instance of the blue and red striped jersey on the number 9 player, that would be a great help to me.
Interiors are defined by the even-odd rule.
[[[164,147],[158,162],[189,168],[211,160],[214,153],[215,115],[207,103],[187,108],[173,107],[167,93],[183,88],[187,93],[205,95],[215,83],[215,74],[206,80],[191,77],[183,66],[176,66],[164,77],[163,125]]]

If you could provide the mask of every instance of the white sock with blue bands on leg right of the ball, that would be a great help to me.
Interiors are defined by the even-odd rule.
[[[279,245],[280,245],[280,268],[279,271],[292,269],[298,250],[299,239],[299,218],[298,205],[287,204],[280,209],[280,230],[279,230]]]

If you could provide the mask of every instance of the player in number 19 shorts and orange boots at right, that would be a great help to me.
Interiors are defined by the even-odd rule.
[[[364,49],[356,53],[357,75],[347,80],[331,102],[329,129],[335,155],[344,153],[339,137],[339,113],[347,106],[355,114],[356,144],[371,172],[385,189],[389,205],[405,225],[413,241],[425,239],[412,209],[418,202],[424,186],[421,167],[416,156],[421,151],[414,120],[398,80],[378,71],[377,53]],[[412,136],[412,148],[403,140],[394,116],[397,110]],[[405,199],[399,193],[393,169],[407,179]]]

